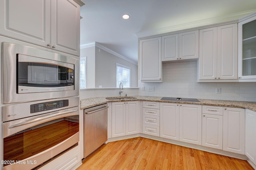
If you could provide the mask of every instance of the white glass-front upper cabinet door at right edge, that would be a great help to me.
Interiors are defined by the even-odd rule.
[[[238,79],[256,81],[256,14],[238,23]]]

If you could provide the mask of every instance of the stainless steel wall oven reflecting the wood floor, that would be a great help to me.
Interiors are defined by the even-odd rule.
[[[3,106],[4,170],[37,169],[76,147],[79,110],[78,97]]]

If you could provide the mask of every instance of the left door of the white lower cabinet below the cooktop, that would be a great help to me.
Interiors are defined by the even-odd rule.
[[[179,140],[179,104],[160,103],[160,137]]]

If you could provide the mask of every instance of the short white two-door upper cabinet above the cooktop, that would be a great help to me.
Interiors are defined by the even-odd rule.
[[[162,37],[162,61],[198,59],[199,31]]]

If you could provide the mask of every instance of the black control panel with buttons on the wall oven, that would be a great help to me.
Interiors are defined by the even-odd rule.
[[[48,110],[58,109],[61,107],[66,107],[66,106],[68,106],[68,100],[58,100],[58,101],[54,101],[54,102],[32,104],[32,105],[30,105],[30,113],[48,111]]]

